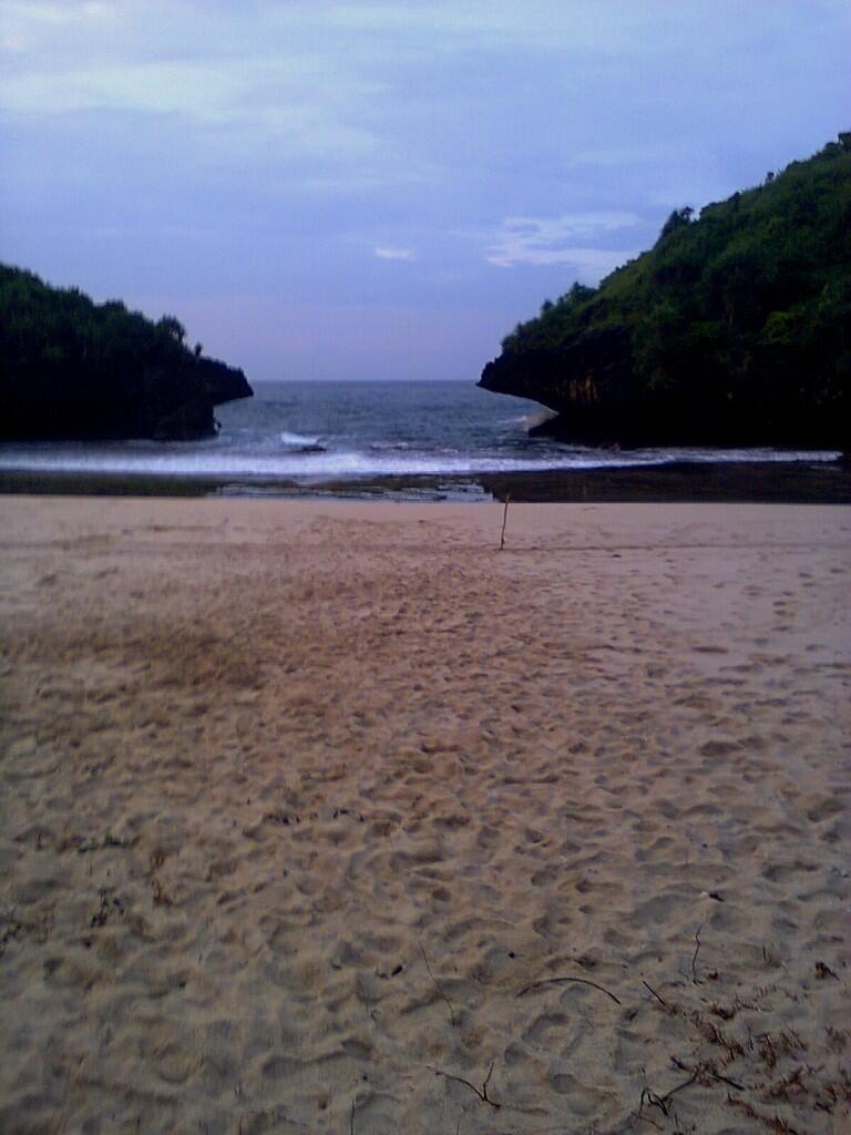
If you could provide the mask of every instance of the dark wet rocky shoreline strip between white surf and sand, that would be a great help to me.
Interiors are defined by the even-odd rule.
[[[851,465],[837,462],[676,462],[534,473],[289,480],[126,473],[0,472],[0,495],[426,499],[475,503],[730,502],[851,504]]]

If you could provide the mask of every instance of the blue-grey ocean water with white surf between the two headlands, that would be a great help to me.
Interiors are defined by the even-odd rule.
[[[0,478],[119,478],[178,482],[189,491],[491,499],[495,479],[676,465],[835,460],[774,449],[593,449],[530,437],[547,412],[472,382],[264,382],[219,406],[220,432],[203,442],[0,445]],[[508,480],[506,480],[506,478]],[[504,488],[503,488],[504,495]]]

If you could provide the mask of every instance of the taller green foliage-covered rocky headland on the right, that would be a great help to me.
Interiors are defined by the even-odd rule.
[[[844,446],[851,134],[699,217],[672,213],[652,250],[519,325],[482,385],[590,440]]]

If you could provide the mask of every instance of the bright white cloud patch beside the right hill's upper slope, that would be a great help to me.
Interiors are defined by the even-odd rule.
[[[639,224],[635,213],[616,211],[507,217],[502,230],[492,237],[486,259],[498,268],[575,264],[585,278],[599,279],[637,252],[634,249],[599,247],[596,243],[604,244],[612,234]]]

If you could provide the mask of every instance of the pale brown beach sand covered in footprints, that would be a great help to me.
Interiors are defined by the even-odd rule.
[[[0,1130],[851,1129],[851,510],[0,499]]]

